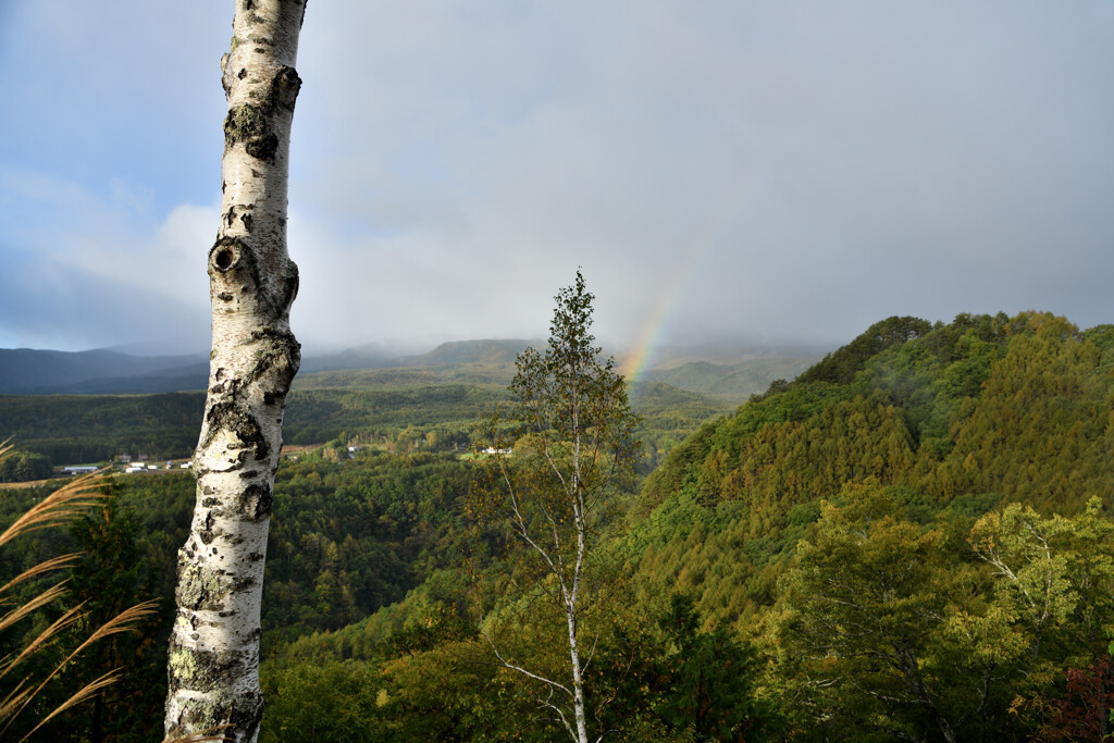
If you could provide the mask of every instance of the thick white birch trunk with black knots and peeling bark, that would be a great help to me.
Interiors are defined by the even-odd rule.
[[[286,393],[301,362],[290,331],[297,267],[286,253],[290,130],[305,0],[236,0],[221,60],[221,226],[208,253],[213,352],[194,452],[197,502],[178,551],[167,734],[254,741],[263,714],[260,604]]]

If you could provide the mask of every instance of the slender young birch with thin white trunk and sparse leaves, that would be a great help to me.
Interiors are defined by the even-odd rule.
[[[633,476],[637,419],[614,359],[602,361],[593,345],[594,297],[579,271],[555,299],[549,348],[518,356],[507,414],[492,419],[490,440],[481,444],[496,451],[482,458],[486,477],[473,492],[479,511],[505,520],[525,544],[536,587],[557,604],[568,638],[567,675],[530,669],[489,637],[491,649],[500,665],[545,687],[541,706],[573,741],[588,743],[595,723],[584,674],[590,648],[586,653],[582,642],[593,590],[586,568],[609,496]],[[518,438],[509,452],[500,429]]]

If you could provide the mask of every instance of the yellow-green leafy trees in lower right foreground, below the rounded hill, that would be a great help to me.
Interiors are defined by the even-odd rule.
[[[1056,725],[1065,669],[1107,657],[1114,521],[1098,500],[1074,518],[1012,504],[957,529],[909,521],[882,488],[858,495],[825,504],[801,540],[765,637],[795,736],[1010,740]]]

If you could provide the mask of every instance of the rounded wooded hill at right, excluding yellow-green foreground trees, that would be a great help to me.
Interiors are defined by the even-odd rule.
[[[860,486],[929,520],[1108,498],[1112,409],[1114,326],[891,317],[671,451],[642,493],[641,569],[743,627],[773,602],[820,501]]]

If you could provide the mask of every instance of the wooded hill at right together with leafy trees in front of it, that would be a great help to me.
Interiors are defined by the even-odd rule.
[[[1112,362],[1047,314],[878,323],[671,452],[636,583],[764,648],[802,737],[1105,731]]]

